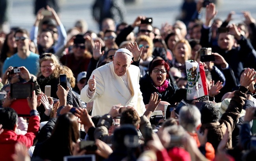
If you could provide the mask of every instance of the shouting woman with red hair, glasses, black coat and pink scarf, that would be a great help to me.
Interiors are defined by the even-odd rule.
[[[176,89],[169,80],[170,66],[163,59],[153,60],[149,71],[141,78],[139,85],[143,102],[148,104],[151,93],[156,92],[161,101],[175,104],[186,99],[186,89]]]

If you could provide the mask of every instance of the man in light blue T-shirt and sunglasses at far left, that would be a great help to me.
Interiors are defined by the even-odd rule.
[[[28,31],[19,29],[15,32],[14,37],[18,52],[4,61],[2,73],[5,73],[9,66],[25,66],[31,74],[37,75],[39,55],[29,49],[31,40]]]

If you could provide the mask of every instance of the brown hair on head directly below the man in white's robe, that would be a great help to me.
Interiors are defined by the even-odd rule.
[[[127,108],[124,112],[121,113],[120,124],[132,124],[135,127],[141,122],[139,114],[132,108]]]

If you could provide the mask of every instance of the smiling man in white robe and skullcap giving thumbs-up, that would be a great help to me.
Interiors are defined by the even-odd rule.
[[[132,53],[121,48],[115,52],[113,62],[93,71],[88,84],[81,91],[84,102],[93,101],[92,116],[108,113],[115,104],[134,106],[139,115],[145,112],[139,89],[140,70],[131,63]]]

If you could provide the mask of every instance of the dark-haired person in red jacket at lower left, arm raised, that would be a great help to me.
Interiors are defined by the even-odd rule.
[[[34,144],[34,139],[39,131],[40,120],[37,112],[37,96],[35,91],[32,92],[31,98],[27,98],[27,101],[31,111],[28,131],[25,135],[17,135],[15,133],[18,115],[13,108],[9,107],[10,104],[5,104],[4,108],[0,108],[0,124],[2,124],[2,129],[4,129],[4,132],[0,135],[0,160],[2,161],[13,160],[12,156],[15,153],[15,144],[17,142],[23,143],[27,148]]]

